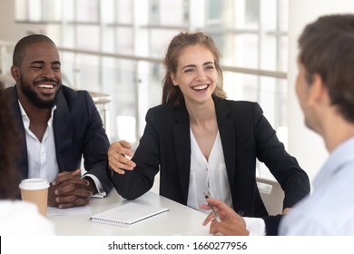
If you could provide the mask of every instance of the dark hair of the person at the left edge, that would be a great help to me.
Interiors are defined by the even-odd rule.
[[[0,200],[19,196],[19,173],[15,168],[19,135],[6,99],[4,83],[0,81]]]

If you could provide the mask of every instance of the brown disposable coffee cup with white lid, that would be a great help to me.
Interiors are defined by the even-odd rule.
[[[37,205],[39,212],[46,217],[49,183],[43,178],[29,178],[21,181],[21,198]]]

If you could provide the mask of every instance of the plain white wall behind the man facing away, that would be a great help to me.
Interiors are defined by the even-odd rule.
[[[306,24],[320,15],[354,12],[353,0],[290,0],[289,3],[289,73],[290,85],[288,119],[289,152],[295,156],[301,167],[308,172],[310,180],[320,170],[328,156],[321,137],[309,131],[303,123],[303,115],[294,92],[297,75],[298,38]]]

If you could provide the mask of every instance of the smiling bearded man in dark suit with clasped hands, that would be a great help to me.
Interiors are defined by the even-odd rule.
[[[22,177],[50,181],[48,204],[59,208],[85,205],[94,193],[105,196],[112,183],[103,122],[89,93],[62,84],[54,42],[43,34],[22,38],[11,74],[15,86],[5,92],[22,135]],[[83,155],[87,174],[81,178]]]

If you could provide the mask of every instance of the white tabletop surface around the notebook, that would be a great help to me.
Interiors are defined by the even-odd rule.
[[[129,201],[166,207],[170,210],[152,218],[139,221],[130,227],[101,224],[90,220],[93,214],[112,209],[122,204],[122,202]],[[136,200],[124,200],[115,190],[112,190],[106,198],[92,198],[89,206],[92,209],[92,213],[49,217],[48,219],[54,222],[56,234],[64,236],[169,236],[205,235],[209,230],[209,225],[202,226],[202,221],[206,218],[206,214],[164,198],[152,191],[145,193]]]

